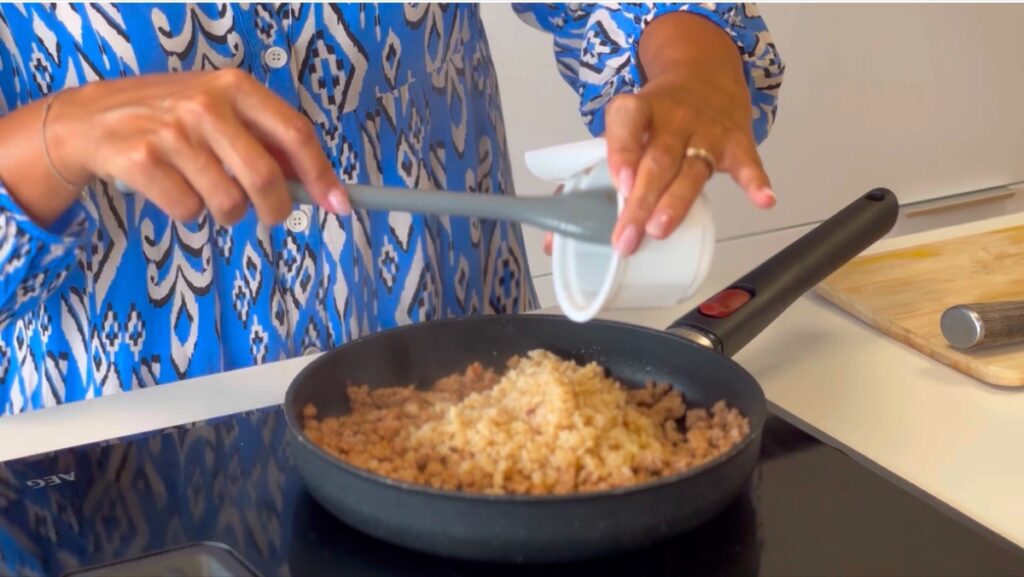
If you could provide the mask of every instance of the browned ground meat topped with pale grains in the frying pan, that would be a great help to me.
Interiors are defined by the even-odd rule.
[[[631,389],[597,364],[546,351],[503,375],[474,364],[429,389],[347,388],[351,412],[304,431],[330,454],[438,489],[567,494],[644,483],[705,463],[750,434],[723,401],[687,409],[664,383]]]

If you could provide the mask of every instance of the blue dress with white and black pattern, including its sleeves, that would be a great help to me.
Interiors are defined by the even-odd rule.
[[[688,10],[736,41],[758,139],[782,64],[753,6],[517,5],[553,35],[591,131],[639,86],[637,40]],[[285,66],[267,59],[272,48]],[[0,113],[103,79],[228,67],[307,116],[345,181],[512,194],[498,85],[472,4],[2,4]],[[325,351],[407,323],[536,303],[517,226],[406,213],[176,223],[102,182],[55,224],[0,182],[0,413]]]

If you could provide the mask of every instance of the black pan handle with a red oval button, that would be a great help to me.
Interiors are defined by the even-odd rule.
[[[731,357],[804,293],[889,234],[899,201],[874,189],[706,300],[669,332]]]

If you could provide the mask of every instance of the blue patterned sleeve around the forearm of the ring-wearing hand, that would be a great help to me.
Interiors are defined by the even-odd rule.
[[[666,13],[699,14],[736,44],[751,91],[754,135],[759,143],[768,136],[785,67],[753,3],[516,3],[513,9],[554,37],[558,72],[580,96],[580,113],[594,135],[604,132],[604,107],[611,97],[640,89],[638,47],[646,26]]]

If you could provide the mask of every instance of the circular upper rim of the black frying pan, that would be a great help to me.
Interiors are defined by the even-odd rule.
[[[536,315],[536,314],[480,315],[480,316],[472,317],[472,318],[462,317],[462,318],[455,318],[455,319],[440,319],[440,320],[437,320],[437,321],[428,321],[426,323],[418,323],[418,324],[413,324],[413,325],[403,325],[403,326],[400,326],[400,327],[393,327],[393,328],[385,329],[383,331],[378,331],[376,333],[373,333],[373,334],[370,334],[370,335],[366,335],[366,336],[356,338],[354,340],[348,341],[347,343],[345,343],[345,344],[343,344],[341,346],[345,346],[345,345],[348,345],[348,344],[355,344],[357,342],[366,342],[366,341],[370,341],[370,340],[374,340],[374,339],[378,339],[378,338],[384,338],[385,335],[387,335],[387,334],[389,334],[391,332],[394,332],[394,331],[399,331],[399,330],[403,330],[403,329],[412,329],[414,327],[423,327],[423,326],[426,326],[426,325],[429,325],[429,326],[449,325],[449,324],[460,323],[460,322],[464,323],[467,320],[476,320],[477,322],[480,322],[481,319],[495,319],[496,320],[495,322],[500,322],[500,321],[508,321],[510,319],[527,319],[527,318],[528,319],[537,319],[539,321],[572,322],[569,319],[566,319],[566,318],[558,316],[558,315]],[[527,321],[527,322],[531,322],[531,321]],[[702,346],[700,346],[700,345],[698,345],[698,344],[696,344],[696,343],[694,343],[694,342],[692,342],[690,340],[687,340],[686,338],[683,338],[681,336],[672,334],[672,333],[670,333],[668,331],[652,329],[652,328],[644,327],[644,326],[640,326],[640,325],[631,325],[629,323],[623,323],[623,322],[618,322],[618,321],[607,321],[607,320],[593,320],[593,321],[589,321],[588,324],[589,325],[599,325],[599,326],[603,326],[603,327],[607,327],[607,328],[628,329],[628,330],[631,330],[631,331],[637,331],[637,332],[640,332],[640,333],[646,333],[646,334],[650,334],[650,335],[656,335],[656,336],[659,336],[659,337],[670,337],[670,338],[677,339],[681,344],[684,344],[686,346],[695,347],[696,349],[702,351],[703,353],[707,353],[707,354],[710,354],[710,355],[717,355],[718,357],[721,357],[724,360],[731,362],[732,365],[733,365],[733,367],[736,370],[738,370],[748,379],[750,379],[750,381],[754,384],[755,391],[757,393],[758,397],[761,399],[761,405],[762,405],[762,407],[764,407],[764,410],[760,411],[760,414],[757,415],[757,419],[751,419],[750,415],[743,415],[743,416],[748,417],[749,419],[751,419],[751,431],[739,443],[737,443],[736,445],[733,445],[733,447],[731,449],[729,449],[728,451],[726,451],[725,453],[719,455],[718,457],[716,457],[716,458],[714,458],[714,459],[712,459],[712,460],[710,460],[708,462],[701,463],[701,464],[699,464],[699,465],[697,465],[695,467],[686,469],[686,470],[684,470],[682,472],[678,472],[678,473],[671,475],[671,476],[668,476],[668,477],[662,477],[662,478],[658,478],[658,479],[655,479],[655,480],[652,480],[652,481],[648,481],[648,482],[645,482],[645,483],[640,483],[640,484],[636,484],[636,485],[629,485],[629,486],[626,486],[626,487],[617,487],[617,488],[614,488],[614,489],[606,489],[606,490],[603,490],[603,491],[591,491],[591,492],[586,492],[586,493],[567,493],[567,494],[563,494],[563,495],[520,495],[520,494],[498,494],[498,495],[496,495],[496,494],[489,494],[489,493],[470,493],[470,492],[467,492],[467,491],[453,491],[453,490],[449,490],[449,489],[435,489],[435,488],[429,487],[427,485],[419,485],[419,484],[415,484],[415,483],[408,483],[408,482],[404,482],[404,481],[399,481],[399,480],[396,480],[396,479],[391,479],[389,477],[385,477],[383,475],[378,475],[376,472],[373,472],[373,471],[370,471],[370,470],[366,470],[366,469],[356,467],[354,465],[348,464],[347,462],[343,461],[342,459],[339,459],[339,458],[335,457],[334,455],[328,453],[324,449],[319,448],[315,443],[313,443],[312,441],[310,441],[308,437],[306,437],[305,432],[302,431],[301,427],[299,426],[299,423],[297,422],[296,416],[293,414],[293,404],[294,404],[293,403],[293,399],[294,399],[294,396],[295,396],[295,390],[298,387],[298,383],[302,380],[303,376],[306,375],[307,372],[311,372],[312,370],[314,370],[317,364],[319,364],[319,363],[326,363],[327,361],[325,359],[328,357],[328,355],[330,355],[331,353],[333,353],[335,351],[340,349],[341,346],[339,346],[339,347],[337,347],[337,348],[335,348],[333,351],[326,352],[324,355],[322,355],[321,357],[317,357],[315,360],[313,360],[308,365],[306,365],[305,367],[303,367],[302,370],[300,370],[299,373],[297,375],[295,375],[295,377],[292,379],[292,382],[289,384],[288,391],[285,395],[285,403],[284,403],[284,407],[283,407],[285,409],[284,413],[285,413],[285,419],[288,422],[289,434],[291,435],[291,437],[294,440],[296,440],[298,443],[300,443],[303,446],[303,448],[311,451],[313,455],[315,455],[318,459],[321,459],[322,461],[324,461],[326,464],[332,466],[335,469],[339,469],[339,470],[341,470],[343,472],[346,472],[346,473],[349,473],[349,475],[353,475],[353,476],[355,476],[357,478],[360,478],[364,481],[369,481],[369,482],[372,482],[372,483],[377,484],[377,485],[384,485],[384,486],[387,486],[389,488],[399,489],[399,490],[403,490],[403,491],[406,491],[408,493],[413,493],[413,494],[418,494],[418,495],[423,495],[423,496],[443,497],[443,498],[453,499],[453,500],[475,501],[475,502],[495,503],[495,504],[579,502],[579,501],[586,501],[586,500],[591,500],[591,499],[602,499],[602,498],[610,498],[610,497],[626,497],[626,496],[630,496],[630,495],[635,494],[635,493],[642,493],[642,492],[645,492],[645,491],[653,491],[653,490],[663,488],[665,486],[675,485],[675,484],[678,484],[678,483],[682,483],[682,482],[686,481],[687,479],[689,479],[691,477],[696,477],[699,473],[702,473],[702,472],[706,472],[706,471],[710,471],[710,470],[718,468],[720,466],[725,466],[725,464],[728,463],[731,459],[733,459],[736,455],[738,455],[742,451],[746,450],[746,448],[752,443],[754,443],[755,441],[757,441],[757,440],[759,440],[761,438],[762,429],[763,429],[763,426],[764,426],[764,421],[765,421],[765,418],[767,416],[767,414],[766,414],[767,413],[767,400],[765,398],[764,389],[761,387],[761,384],[754,377],[754,375],[752,375],[739,363],[736,363],[734,360],[732,360],[732,359],[730,359],[728,357],[725,357],[724,355],[721,355],[721,354],[716,353],[714,351],[705,348],[705,347],[702,347]],[[755,420],[757,422],[755,422]],[[300,473],[301,473],[301,471],[300,471]]]

